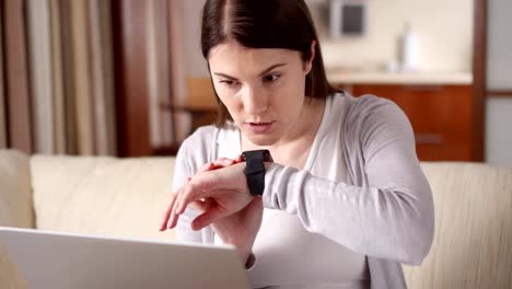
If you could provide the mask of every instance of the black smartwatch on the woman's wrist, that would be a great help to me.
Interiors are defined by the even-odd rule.
[[[251,195],[261,196],[265,189],[265,165],[264,162],[274,162],[270,151],[253,150],[242,152],[245,161],[245,177]]]

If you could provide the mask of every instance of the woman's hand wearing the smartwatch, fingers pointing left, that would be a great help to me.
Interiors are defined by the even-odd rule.
[[[191,222],[193,230],[200,230],[244,209],[253,200],[244,169],[245,162],[240,162],[195,175],[171,196],[164,223],[173,229],[188,205],[200,206],[205,200],[208,200],[208,209]]]

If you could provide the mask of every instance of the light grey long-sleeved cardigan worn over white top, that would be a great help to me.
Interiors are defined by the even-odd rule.
[[[340,113],[325,113],[323,126],[338,129],[329,134],[339,136],[348,181],[331,182],[272,164],[266,174],[264,206],[294,213],[307,231],[365,254],[372,288],[406,288],[402,263],[421,264],[434,231],[432,194],[416,157],[411,126],[391,101],[373,95],[329,97]],[[185,140],[176,159],[175,189],[218,158],[219,131],[202,127]],[[211,228],[189,229],[195,216],[193,210],[182,216],[177,239],[213,243]]]

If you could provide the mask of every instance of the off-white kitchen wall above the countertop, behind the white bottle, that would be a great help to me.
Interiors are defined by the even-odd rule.
[[[405,22],[420,37],[420,69],[468,71],[473,55],[473,0],[361,0],[368,3],[366,35],[329,39],[322,7],[306,0],[322,37],[327,66],[382,66],[396,58]]]

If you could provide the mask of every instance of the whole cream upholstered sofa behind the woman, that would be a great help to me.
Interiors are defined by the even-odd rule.
[[[423,162],[435,236],[409,288],[512,288],[512,169]],[[0,226],[172,241],[159,222],[174,158],[26,155],[0,150]],[[0,246],[0,288],[24,284]]]

